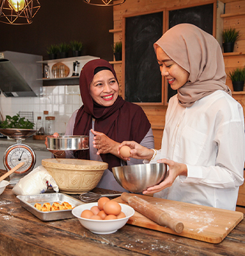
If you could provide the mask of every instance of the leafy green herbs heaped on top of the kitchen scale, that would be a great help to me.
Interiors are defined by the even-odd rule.
[[[16,114],[13,117],[6,116],[6,119],[1,122],[1,128],[18,128],[18,129],[33,129],[35,126],[34,122],[30,122],[25,117],[20,117],[19,114]]]

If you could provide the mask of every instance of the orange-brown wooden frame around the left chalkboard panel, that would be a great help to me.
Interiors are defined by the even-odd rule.
[[[122,91],[123,91],[123,96],[125,98],[125,100],[127,100],[127,98],[125,97],[125,80],[126,80],[126,74],[125,74],[125,66],[126,66],[126,61],[125,61],[125,38],[127,37],[127,32],[126,32],[126,20],[127,18],[132,18],[132,17],[136,17],[136,16],[143,16],[143,15],[148,15],[148,14],[152,14],[152,13],[163,13],[163,31],[162,31],[162,34],[165,30],[165,15],[166,15],[166,8],[163,8],[163,9],[160,9],[160,10],[155,10],[155,11],[151,11],[151,12],[143,12],[143,13],[137,13],[137,14],[131,14],[131,15],[124,15],[123,16],[123,49],[122,49],[122,63],[123,63],[123,72],[122,72]],[[160,35],[161,36],[161,35]],[[159,38],[160,38],[159,36]],[[157,38],[158,39],[158,38]],[[153,44],[152,44],[152,49],[153,49]],[[157,60],[156,61],[156,64],[157,64]],[[158,65],[158,64],[157,64]],[[135,70],[135,72],[138,72],[138,70]],[[159,74],[160,74],[160,69],[159,69]],[[161,96],[160,96],[160,102],[134,102],[138,105],[165,105],[164,104],[164,91],[165,91],[165,79],[163,79],[163,77],[161,77],[161,84],[159,86],[161,86]],[[130,100],[129,100],[130,101]]]

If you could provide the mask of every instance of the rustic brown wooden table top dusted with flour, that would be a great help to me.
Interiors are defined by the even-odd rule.
[[[99,192],[98,189],[94,191]],[[238,256],[244,255],[244,252],[244,220],[224,238],[224,241],[217,244],[129,224],[113,234],[96,235],[85,229],[77,218],[40,221],[21,207],[10,187],[0,195],[0,255],[108,256],[164,253]]]

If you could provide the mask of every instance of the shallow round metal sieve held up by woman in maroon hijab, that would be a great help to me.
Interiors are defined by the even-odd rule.
[[[80,151],[89,149],[89,136],[48,136],[47,143],[52,151]]]

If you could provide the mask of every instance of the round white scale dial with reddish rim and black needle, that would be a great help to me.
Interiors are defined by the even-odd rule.
[[[11,170],[18,163],[24,162],[24,165],[15,171],[15,173],[25,173],[32,170],[36,163],[35,152],[28,145],[17,143],[9,148],[4,153],[4,166],[7,170]]]

